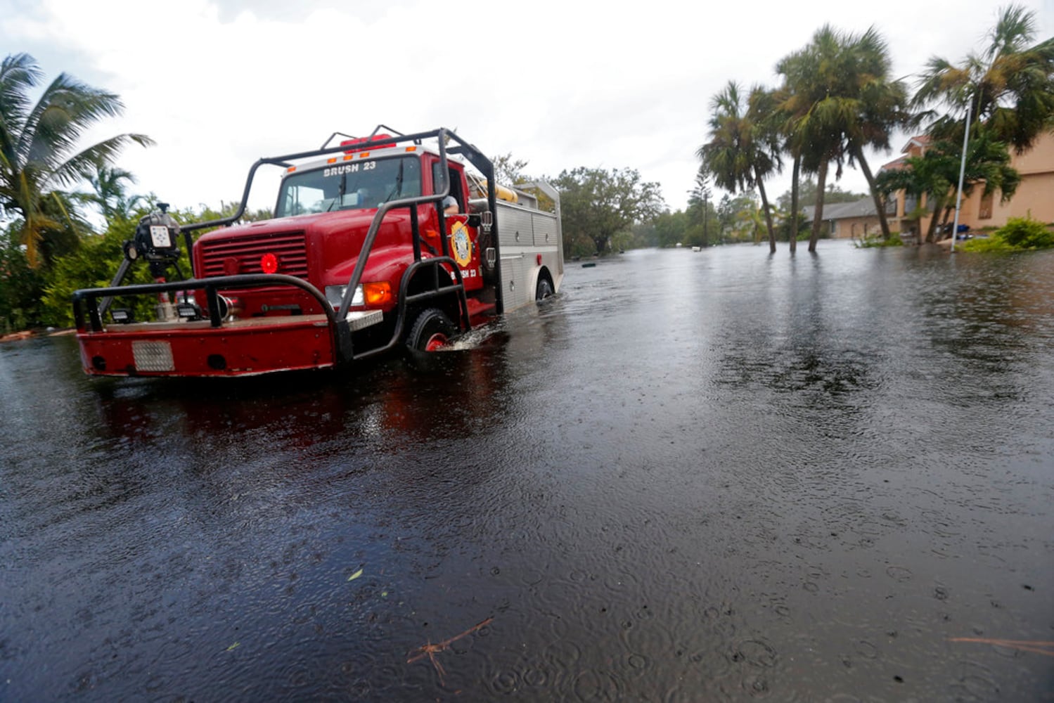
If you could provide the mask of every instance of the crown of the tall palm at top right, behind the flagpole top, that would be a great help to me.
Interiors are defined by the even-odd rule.
[[[971,132],[991,131],[1018,154],[1054,129],[1054,38],[1030,46],[1035,33],[1035,14],[1009,5],[1000,8],[982,54],[971,53],[958,65],[931,58],[913,104],[943,104],[951,114],[922,113],[920,119],[932,120],[929,133],[961,142],[960,116],[968,103],[973,108]]]

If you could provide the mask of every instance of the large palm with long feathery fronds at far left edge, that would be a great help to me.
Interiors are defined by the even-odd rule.
[[[55,209],[50,213],[45,201],[60,200],[63,189],[84,178],[96,164],[112,163],[128,143],[153,143],[140,134],[121,134],[77,151],[85,130],[104,117],[119,115],[123,105],[115,94],[64,73],[33,102],[31,94],[42,77],[28,54],[9,55],[0,64],[0,203],[22,216],[22,243],[34,267],[40,261],[44,232],[61,229]]]

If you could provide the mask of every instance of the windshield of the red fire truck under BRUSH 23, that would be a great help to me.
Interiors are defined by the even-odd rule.
[[[417,195],[421,162],[416,157],[355,159],[286,176],[275,217],[377,208]]]

